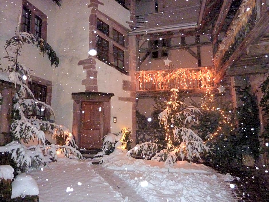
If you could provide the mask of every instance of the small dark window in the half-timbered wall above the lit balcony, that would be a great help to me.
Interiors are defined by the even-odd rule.
[[[168,50],[162,50],[162,48],[169,46],[170,46],[170,39],[150,41],[150,47],[152,50],[154,50],[151,52],[151,58],[167,57]]]

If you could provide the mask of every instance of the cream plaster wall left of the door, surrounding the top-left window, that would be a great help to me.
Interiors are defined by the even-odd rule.
[[[2,67],[5,40],[11,38],[17,26],[17,17],[22,1],[0,1],[0,53]],[[72,128],[73,100],[72,92],[83,92],[81,81],[86,78],[86,71],[78,66],[78,61],[88,57],[88,1],[62,1],[60,9],[51,0],[29,0],[35,7],[48,16],[47,41],[60,58],[58,68],[51,67],[48,57],[39,55],[37,48],[23,47],[19,62],[32,70],[32,75],[52,81],[52,108],[56,113],[56,123]]]

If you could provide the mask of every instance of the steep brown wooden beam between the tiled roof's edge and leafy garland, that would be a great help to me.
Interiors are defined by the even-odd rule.
[[[224,21],[226,19],[226,16],[228,14],[228,11],[231,7],[233,0],[224,0],[223,4],[221,6],[221,9],[219,11],[219,16],[217,18],[217,21],[215,23],[215,26],[212,31],[212,38],[213,38],[213,44],[217,42],[217,37],[219,35],[219,32],[224,24]]]

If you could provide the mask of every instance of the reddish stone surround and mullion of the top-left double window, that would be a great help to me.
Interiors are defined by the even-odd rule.
[[[22,8],[28,9],[31,11],[30,15],[30,27],[29,29],[25,30],[23,27],[23,17],[21,18],[21,24],[20,24],[20,31],[23,32],[29,32],[31,34],[37,34],[35,30],[35,18],[41,19],[41,28],[39,28],[39,32],[41,31],[41,34],[39,34],[40,38],[43,38],[44,40],[47,40],[47,23],[48,23],[48,17],[45,15],[42,11],[40,11],[37,7],[32,5],[27,0],[22,0]]]

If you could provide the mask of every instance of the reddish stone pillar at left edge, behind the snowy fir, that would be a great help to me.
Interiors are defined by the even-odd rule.
[[[10,123],[12,98],[15,95],[15,89],[5,87],[2,91],[3,101],[0,110],[0,146],[10,142]]]

